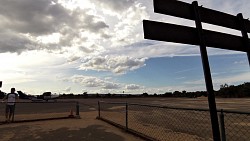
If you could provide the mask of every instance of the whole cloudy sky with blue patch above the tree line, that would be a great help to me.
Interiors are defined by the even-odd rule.
[[[191,0],[183,0],[191,3]],[[250,17],[249,0],[199,0]],[[187,26],[152,0],[1,0],[0,81],[28,94],[206,90],[199,47],[146,40],[142,20]],[[209,30],[241,35],[203,24]],[[170,33],[171,34],[171,33]],[[208,48],[214,89],[249,82],[245,53]]]

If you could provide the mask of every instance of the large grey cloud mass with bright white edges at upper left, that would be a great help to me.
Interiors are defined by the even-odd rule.
[[[60,33],[62,36],[59,43],[53,45],[57,47],[51,49],[71,46],[75,39],[86,41],[88,37],[82,37],[81,31],[109,38],[104,32],[108,25],[96,15],[89,14],[89,10],[69,10],[57,0],[1,0],[0,53],[36,49],[36,37],[52,33]],[[44,45],[44,48],[50,46]]]

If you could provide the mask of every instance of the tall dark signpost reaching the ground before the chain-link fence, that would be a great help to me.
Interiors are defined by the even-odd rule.
[[[207,93],[208,93],[208,104],[209,104],[209,109],[210,109],[213,139],[214,141],[220,141],[220,129],[219,129],[217,109],[216,109],[216,103],[215,103],[213,82],[212,82],[212,76],[211,76],[210,66],[209,66],[209,61],[208,61],[208,56],[207,56],[206,43],[203,38],[203,31],[202,31],[202,24],[201,24],[201,19],[200,19],[200,14],[199,14],[198,2],[194,1],[192,5],[194,8],[195,24],[196,24],[196,28],[198,31],[198,38],[200,41],[200,52],[201,52],[203,71],[204,71],[204,76],[205,76],[205,81],[206,81],[206,88],[207,88]]]

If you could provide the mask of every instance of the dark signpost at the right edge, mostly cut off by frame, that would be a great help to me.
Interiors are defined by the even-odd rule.
[[[244,45],[245,45],[246,49],[248,49],[247,57],[248,57],[248,63],[249,63],[249,66],[250,66],[250,43],[248,41],[247,30],[246,30],[246,26],[245,26],[245,23],[244,23],[244,18],[243,18],[242,13],[237,14],[237,18],[238,18],[238,22],[239,22],[240,29],[241,29],[241,34],[242,34],[242,37],[243,37],[243,40],[244,40]]]

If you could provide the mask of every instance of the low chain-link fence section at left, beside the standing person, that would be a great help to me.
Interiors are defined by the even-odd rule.
[[[6,122],[6,103],[0,103],[0,124]],[[16,102],[12,122],[60,119],[79,116],[76,101],[61,102]]]

